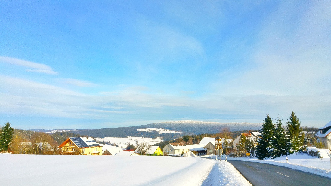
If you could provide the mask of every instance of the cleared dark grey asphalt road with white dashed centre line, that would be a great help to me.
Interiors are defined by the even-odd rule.
[[[331,179],[287,167],[270,164],[228,161],[254,186],[331,185]]]

